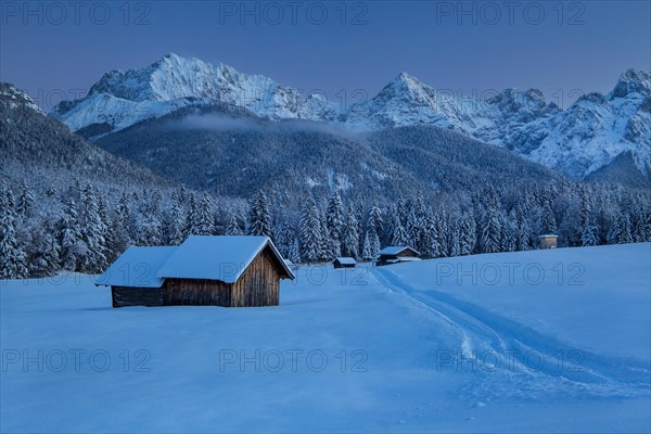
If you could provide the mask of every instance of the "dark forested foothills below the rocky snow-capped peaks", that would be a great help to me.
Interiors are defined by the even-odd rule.
[[[434,126],[347,132],[299,119],[270,120],[227,103],[188,105],[87,141],[0,84],[0,183],[35,191],[75,180],[112,196],[180,184],[240,203],[264,190],[392,201],[480,186],[508,189],[561,180],[507,150]],[[234,202],[233,202],[234,201]]]

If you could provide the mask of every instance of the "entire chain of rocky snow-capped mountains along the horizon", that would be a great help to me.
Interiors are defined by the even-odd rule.
[[[214,104],[266,120],[302,119],[347,132],[436,126],[574,179],[622,170],[651,179],[651,75],[635,69],[622,74],[608,94],[584,94],[566,110],[547,103],[536,89],[507,89],[480,100],[438,92],[406,73],[376,95],[342,107],[265,76],[167,54],[144,68],[105,74],[85,98],[63,101],[50,115],[97,140],[183,107]]]

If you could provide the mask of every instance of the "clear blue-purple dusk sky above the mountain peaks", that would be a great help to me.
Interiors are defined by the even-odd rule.
[[[127,7],[125,7],[127,4]],[[567,106],[651,69],[649,1],[0,3],[0,80],[46,110],[167,52],[339,101],[405,71],[437,89],[541,89]]]

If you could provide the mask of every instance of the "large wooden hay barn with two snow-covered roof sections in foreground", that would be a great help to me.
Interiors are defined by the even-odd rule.
[[[190,237],[180,246],[129,247],[95,284],[113,307],[277,306],[294,275],[267,237]]]

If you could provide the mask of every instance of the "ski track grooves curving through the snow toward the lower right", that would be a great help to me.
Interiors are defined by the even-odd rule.
[[[465,372],[473,362],[476,363],[478,368],[472,371],[481,379],[464,387],[462,395],[483,398],[537,398],[541,394],[565,397],[649,395],[651,370],[646,361],[612,358],[577,348],[446,293],[418,290],[388,269],[374,269],[371,276],[388,291],[406,297],[430,315],[443,318],[457,330],[462,360],[457,355],[452,361],[461,363],[459,372]],[[445,349],[451,349],[454,354],[455,348]],[[515,356],[507,360],[509,353],[506,352]],[[538,362],[536,357],[541,357],[541,367],[529,367],[524,362],[522,356],[534,354],[531,352],[535,352],[535,357],[529,360],[533,360],[532,365]],[[495,354],[503,357],[499,363],[489,365],[495,359],[486,356]],[[565,358],[560,358],[560,354]],[[572,360],[567,360],[569,355],[573,355]]]

